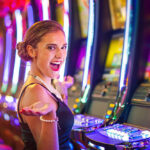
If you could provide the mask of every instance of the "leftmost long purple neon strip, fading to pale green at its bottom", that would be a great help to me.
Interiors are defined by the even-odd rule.
[[[1,88],[2,92],[6,92],[7,87],[8,87],[11,51],[12,51],[12,28],[9,28],[6,31],[6,52],[5,52],[3,83],[2,83],[2,88]]]

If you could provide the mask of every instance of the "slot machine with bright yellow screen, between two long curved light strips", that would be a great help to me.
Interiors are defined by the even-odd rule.
[[[94,1],[94,39],[81,114],[75,115],[74,139],[105,124],[115,107],[125,36],[126,1]],[[83,142],[84,143],[84,142]]]

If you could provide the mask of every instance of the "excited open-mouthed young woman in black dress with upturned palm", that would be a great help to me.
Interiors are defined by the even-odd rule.
[[[66,47],[61,25],[52,20],[36,22],[26,32],[24,41],[17,44],[19,56],[31,61],[31,69],[18,100],[25,150],[70,149],[73,114],[51,84],[52,79],[59,78],[66,59]],[[66,83],[69,86],[71,78],[66,81],[69,81]]]

